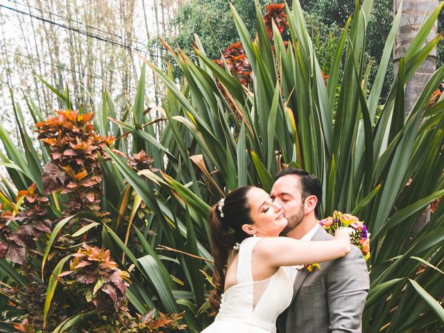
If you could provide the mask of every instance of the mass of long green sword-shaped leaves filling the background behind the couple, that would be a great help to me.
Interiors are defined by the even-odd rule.
[[[83,164],[71,165],[74,160],[67,159],[73,173],[64,169],[69,181],[62,180],[76,189],[82,187],[83,179],[94,182],[94,196],[88,197],[88,187],[82,192],[86,212],[60,219],[60,203],[71,194],[46,194],[53,223],[51,234],[37,243],[37,253],[42,255],[34,262],[52,277],[46,284],[47,295],[58,295],[63,283],[58,278],[69,269],[71,255],[55,255],[58,237],[63,234],[66,239],[78,240],[72,244],[76,250],[84,237],[109,249],[119,269],[129,272],[126,299],[133,318],[139,318],[133,320],[135,327],[147,325],[151,316],[144,314],[156,308],[171,314],[185,311],[182,323],[187,327],[180,330],[199,332],[212,321],[206,301],[207,291],[212,289],[207,225],[210,205],[242,185],[268,191],[273,174],[291,165],[307,169],[323,182],[323,215],[330,216],[334,210],[350,212],[365,221],[372,234],[364,332],[442,327],[443,200],[419,234],[411,237],[411,230],[422,210],[444,194],[444,102],[438,97],[429,103],[444,78],[444,68],[425,85],[409,117],[405,121],[403,117],[405,83],[441,39],[438,36],[421,47],[443,4],[422,25],[400,60],[400,71],[383,105],[379,104],[382,85],[400,14],[393,19],[377,76],[370,84],[364,46],[372,6],[373,0],[361,5],[357,2],[343,28],[326,82],[295,0],[291,10],[288,6],[267,8],[270,14],[265,22],[257,5],[258,31],[253,41],[232,8],[241,45],[229,48],[216,62],[205,55],[198,37],[196,62],[164,43],[183,79],[178,85],[170,68],[165,73],[147,62],[168,88],[158,119],[145,112],[144,68],[133,108],[123,117],[118,119],[105,92],[94,124],[101,137],[117,138],[114,146],[111,141],[103,144],[102,157],[96,156],[99,164],[93,164],[94,168],[99,165],[100,171],[87,171],[86,179]],[[273,21],[276,19],[278,25]],[[282,31],[289,33],[289,40],[282,38]],[[53,91],[67,109],[71,108],[67,92]],[[36,123],[44,121],[32,101],[28,101],[28,108]],[[35,191],[43,195],[47,193],[43,166],[58,155],[53,156],[45,146],[38,154],[22,126],[19,108],[16,114],[22,148],[16,148],[0,128],[8,155],[1,155],[3,165],[17,190],[26,190],[34,182]],[[80,192],[74,191],[72,198],[78,198],[76,193]],[[96,208],[99,193],[100,210],[89,209]],[[4,207],[12,214],[17,208],[13,200],[17,191],[6,179],[1,194]],[[29,284],[19,267],[4,259],[0,270],[3,283],[11,288]],[[62,278],[67,277],[62,274]],[[57,297],[51,297],[46,296],[46,316],[57,302]],[[62,321],[56,332],[81,327],[96,318],[95,310],[88,310],[71,311],[72,317]],[[14,313],[14,309],[9,311]],[[16,325],[28,325],[19,319]],[[171,328],[177,329],[177,325]]]

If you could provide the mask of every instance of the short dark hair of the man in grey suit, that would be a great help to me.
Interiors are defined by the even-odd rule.
[[[304,201],[308,196],[316,196],[316,198],[318,198],[318,203],[316,203],[316,207],[314,208],[314,214],[316,214],[316,217],[319,217],[319,206],[321,205],[322,201],[322,184],[318,178],[309,174],[304,169],[288,168],[278,172],[275,176],[275,181],[287,175],[298,177],[302,191],[302,201]]]

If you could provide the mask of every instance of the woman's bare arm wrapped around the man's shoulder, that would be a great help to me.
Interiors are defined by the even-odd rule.
[[[331,241],[298,241],[290,237],[264,238],[255,246],[257,255],[271,266],[327,262],[350,252],[348,230],[339,230]]]

